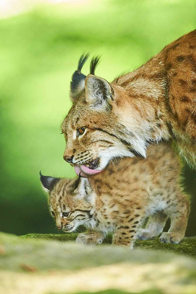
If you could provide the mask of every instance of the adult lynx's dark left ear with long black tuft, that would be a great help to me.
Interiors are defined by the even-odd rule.
[[[82,54],[78,61],[78,69],[72,75],[72,81],[70,83],[70,99],[75,103],[84,91],[84,80],[86,76],[81,73],[81,69],[84,63],[87,61],[89,53]]]

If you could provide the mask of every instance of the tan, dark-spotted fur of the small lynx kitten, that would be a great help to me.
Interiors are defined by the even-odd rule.
[[[164,243],[178,243],[189,216],[189,201],[179,183],[180,162],[170,143],[151,144],[147,158],[123,158],[101,173],[78,179],[60,179],[49,195],[56,225],[77,232],[90,228],[77,242],[100,244],[113,232],[113,244],[133,247],[134,240],[162,233],[167,217],[171,226],[162,233]],[[62,217],[69,212],[68,217]],[[142,224],[150,216],[145,229]]]

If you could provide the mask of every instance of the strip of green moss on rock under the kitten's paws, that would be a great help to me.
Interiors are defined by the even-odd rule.
[[[72,234],[27,234],[22,235],[20,238],[23,239],[47,239],[47,240],[58,240],[58,241],[72,241],[76,239],[76,235]],[[112,240],[111,235],[104,240],[105,244],[110,244]],[[179,244],[165,244],[161,243],[159,238],[152,240],[137,240],[135,242],[135,248],[142,248],[147,250],[163,250],[182,255],[187,255],[196,258],[196,237],[185,237]]]

